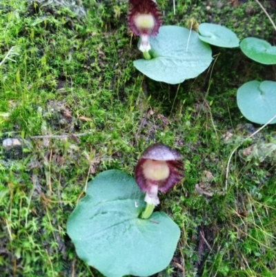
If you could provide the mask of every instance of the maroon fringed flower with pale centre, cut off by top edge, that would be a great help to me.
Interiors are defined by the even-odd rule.
[[[130,30],[141,37],[139,50],[148,52],[150,37],[156,36],[162,25],[157,3],[154,0],[129,0],[127,22]]]

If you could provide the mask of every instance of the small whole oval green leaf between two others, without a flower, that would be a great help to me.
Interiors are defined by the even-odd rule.
[[[219,47],[239,47],[239,39],[232,30],[213,23],[199,25],[199,39]]]

